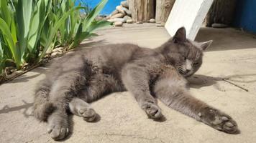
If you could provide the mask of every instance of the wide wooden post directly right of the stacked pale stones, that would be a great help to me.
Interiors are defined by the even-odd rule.
[[[132,12],[133,21],[148,22],[155,19],[154,0],[129,0],[129,10]]]

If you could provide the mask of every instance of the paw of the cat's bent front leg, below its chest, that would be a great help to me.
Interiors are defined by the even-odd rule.
[[[142,105],[142,109],[145,110],[150,118],[157,119],[163,116],[161,109],[156,104],[147,102]]]

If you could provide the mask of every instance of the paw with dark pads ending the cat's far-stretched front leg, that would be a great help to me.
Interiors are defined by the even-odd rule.
[[[232,117],[229,115],[224,114],[217,109],[207,107],[203,109],[202,112],[198,114],[198,116],[201,118],[202,122],[208,124],[214,129],[218,129],[229,134],[240,133],[237,127],[237,122],[235,122],[234,119],[232,119]]]

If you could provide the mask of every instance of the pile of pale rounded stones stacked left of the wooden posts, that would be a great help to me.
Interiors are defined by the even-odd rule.
[[[114,22],[114,26],[122,26],[123,23],[132,24],[132,12],[129,11],[128,1],[121,1],[120,6],[116,6],[116,9],[106,19]]]

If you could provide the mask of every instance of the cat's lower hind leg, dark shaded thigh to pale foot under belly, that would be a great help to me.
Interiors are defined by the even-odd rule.
[[[109,92],[121,92],[121,90],[122,87],[111,75],[95,74],[88,81],[86,88],[81,90],[77,97],[69,102],[70,112],[83,117],[87,122],[93,122],[97,114],[87,102],[93,102]]]

